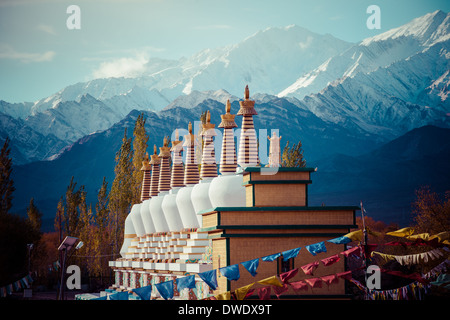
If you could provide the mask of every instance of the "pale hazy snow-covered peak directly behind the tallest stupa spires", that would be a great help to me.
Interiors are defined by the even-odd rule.
[[[86,94],[105,104],[108,100],[111,105],[117,105],[113,101],[116,98],[131,100],[142,110],[160,110],[194,90],[225,89],[240,96],[248,84],[253,92],[274,94],[295,81],[299,74],[350,46],[331,35],[298,26],[268,28],[235,45],[205,49],[189,58],[152,58],[142,75],[135,78],[94,79],[68,86],[37,101],[32,112],[42,112],[59,102],[79,101]]]

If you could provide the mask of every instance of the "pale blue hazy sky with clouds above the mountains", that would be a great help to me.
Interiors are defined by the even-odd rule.
[[[70,5],[80,29],[68,29]],[[367,7],[381,9],[368,29]],[[358,42],[448,0],[0,0],[0,100],[36,101],[67,85],[132,71],[152,57],[178,59],[296,24]],[[72,20],[70,20],[72,21]]]

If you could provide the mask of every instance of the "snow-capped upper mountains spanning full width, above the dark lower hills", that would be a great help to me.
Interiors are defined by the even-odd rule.
[[[418,126],[449,125],[449,20],[436,11],[358,44],[298,26],[268,28],[189,58],[152,58],[134,78],[76,83],[34,104],[1,102],[0,113],[30,129],[17,147],[25,162],[53,159],[61,142],[105,130],[132,110],[236,101],[247,84],[257,103],[283,97],[323,123],[387,141]],[[0,128],[1,137],[14,128]],[[39,145],[37,136],[54,145],[39,156],[22,150]]]

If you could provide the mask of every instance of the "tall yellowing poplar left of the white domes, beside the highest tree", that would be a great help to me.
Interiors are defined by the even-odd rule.
[[[110,234],[114,241],[114,253],[119,252],[119,244],[123,241],[125,219],[130,211],[133,199],[133,154],[131,138],[124,131],[122,145],[116,153],[116,166],[114,168],[114,181],[108,196]]]

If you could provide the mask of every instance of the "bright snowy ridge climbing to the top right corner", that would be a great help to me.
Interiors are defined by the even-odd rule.
[[[450,15],[440,10],[416,18],[411,22],[367,38],[348,50],[331,57],[319,67],[301,74],[278,96],[303,99],[317,93],[335,81],[363,72],[388,67],[392,63],[408,59],[439,42],[450,38]]]

